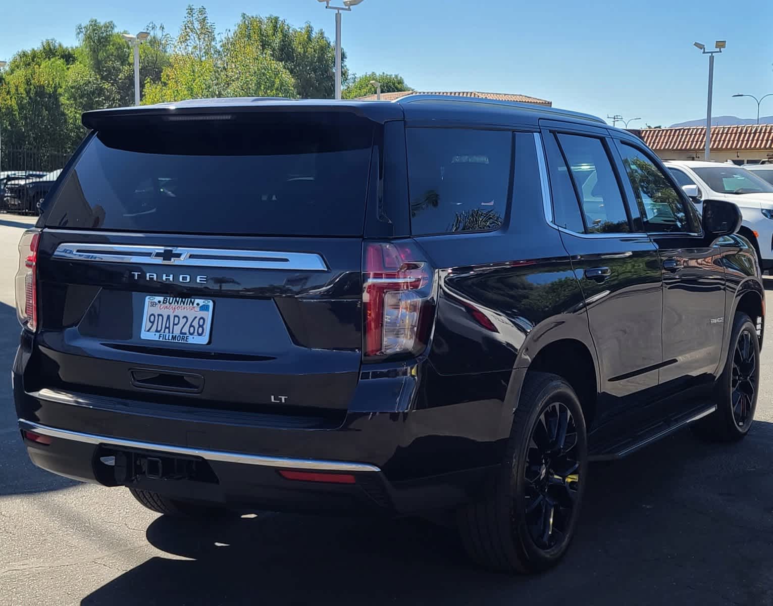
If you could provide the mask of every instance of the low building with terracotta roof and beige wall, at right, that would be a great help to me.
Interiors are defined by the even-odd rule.
[[[703,160],[706,128],[645,128],[631,131],[663,160]],[[711,128],[711,160],[736,164],[773,162],[773,124],[741,124]]]

